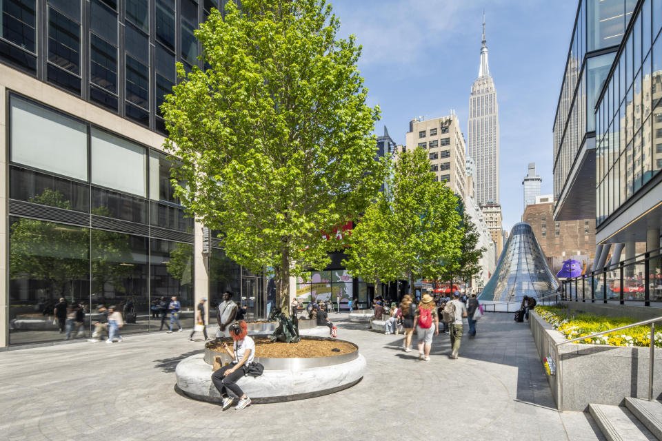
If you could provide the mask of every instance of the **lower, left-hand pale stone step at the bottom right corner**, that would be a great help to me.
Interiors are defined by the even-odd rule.
[[[588,410],[608,441],[656,441],[655,436],[625,407],[589,404]]]

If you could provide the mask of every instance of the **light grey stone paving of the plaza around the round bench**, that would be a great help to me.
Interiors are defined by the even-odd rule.
[[[201,351],[188,334],[0,353],[3,440],[601,440],[588,413],[554,408],[528,325],[488,314],[451,360],[448,334],[432,361],[333,314],[368,373],[329,396],[222,412],[175,389],[177,362]]]

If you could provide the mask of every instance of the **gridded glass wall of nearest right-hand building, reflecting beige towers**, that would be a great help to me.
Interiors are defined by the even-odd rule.
[[[640,1],[596,107],[596,225],[662,169],[662,1]]]

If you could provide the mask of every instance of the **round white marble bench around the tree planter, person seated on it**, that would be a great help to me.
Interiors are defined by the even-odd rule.
[[[323,339],[315,336],[305,338]],[[221,402],[219,391],[212,383],[210,362],[213,358],[214,352],[205,349],[205,353],[181,360],[175,369],[179,390],[196,400]],[[366,369],[365,358],[358,347],[357,351],[339,356],[256,357],[255,360],[264,365],[262,376],[244,376],[237,384],[256,403],[302,400],[341,391],[361,381]]]

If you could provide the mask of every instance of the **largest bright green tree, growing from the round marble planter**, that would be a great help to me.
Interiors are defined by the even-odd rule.
[[[209,68],[179,64],[161,106],[177,196],[221,230],[230,258],[274,268],[285,314],[290,274],[327,265],[340,244],[323,232],[356,218],[383,181],[379,109],[339,24],[323,0],[229,2],[195,32]]]

